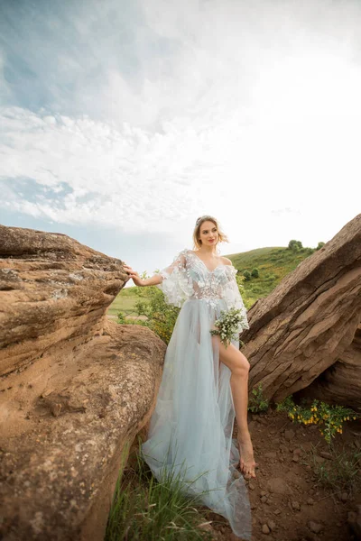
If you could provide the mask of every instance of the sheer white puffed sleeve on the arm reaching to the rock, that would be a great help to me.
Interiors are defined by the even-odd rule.
[[[182,250],[169,267],[154,273],[162,276],[162,283],[156,287],[162,290],[167,304],[174,307],[181,307],[193,293],[192,280],[187,272],[186,254],[187,249]]]

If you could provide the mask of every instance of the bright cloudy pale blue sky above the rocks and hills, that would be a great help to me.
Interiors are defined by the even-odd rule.
[[[152,274],[360,212],[358,0],[2,0],[0,223]],[[130,284],[129,284],[130,285]]]

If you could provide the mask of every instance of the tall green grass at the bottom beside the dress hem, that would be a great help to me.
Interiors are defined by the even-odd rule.
[[[184,494],[178,475],[164,472],[158,482],[139,453],[135,466],[129,462],[116,481],[105,541],[211,539],[199,499]]]

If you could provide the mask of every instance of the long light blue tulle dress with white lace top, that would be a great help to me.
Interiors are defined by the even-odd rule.
[[[235,409],[231,371],[219,362],[218,340],[209,330],[230,307],[241,309],[238,331],[249,328],[236,283],[236,269],[213,271],[199,256],[182,250],[159,271],[166,301],[181,307],[165,355],[162,383],[142,454],[154,476],[174,472],[190,495],[226,517],[236,536],[251,539],[251,511],[245,480],[236,470],[232,439]],[[239,347],[239,341],[232,342]]]

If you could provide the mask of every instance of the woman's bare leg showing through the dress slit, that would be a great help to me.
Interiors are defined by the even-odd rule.
[[[247,476],[255,477],[255,466],[257,464],[255,463],[253,445],[247,424],[249,362],[245,355],[237,350],[233,344],[229,344],[226,348],[220,342],[218,335],[214,335],[212,340],[218,342],[220,362],[224,362],[231,371],[230,385],[238,426],[241,472]]]

